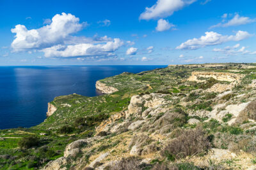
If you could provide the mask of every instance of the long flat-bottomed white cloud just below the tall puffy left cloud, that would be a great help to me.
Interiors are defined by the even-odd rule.
[[[44,48],[42,52],[45,57],[77,57],[77,56],[98,56],[109,57],[115,55],[115,52],[124,42],[118,38],[107,43],[90,44],[82,43],[77,45],[56,45]]]

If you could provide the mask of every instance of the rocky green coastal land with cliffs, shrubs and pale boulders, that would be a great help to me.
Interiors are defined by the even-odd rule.
[[[56,97],[0,131],[0,169],[256,169],[256,65],[173,65]]]

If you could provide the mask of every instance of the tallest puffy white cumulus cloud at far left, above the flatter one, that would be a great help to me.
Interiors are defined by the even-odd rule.
[[[13,51],[42,49],[63,43],[70,34],[80,31],[83,24],[79,23],[70,13],[61,13],[52,17],[51,25],[39,29],[28,30],[25,25],[16,25],[11,31],[16,33],[12,42]]]

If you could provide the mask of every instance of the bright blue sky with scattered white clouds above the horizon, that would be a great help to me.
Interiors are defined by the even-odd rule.
[[[0,0],[0,66],[256,62],[255,0]]]

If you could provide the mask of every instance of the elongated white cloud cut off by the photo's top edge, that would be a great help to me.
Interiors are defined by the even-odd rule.
[[[150,20],[168,17],[174,11],[182,9],[184,6],[194,3],[196,0],[157,0],[156,4],[146,8],[140,15],[140,20]]]

